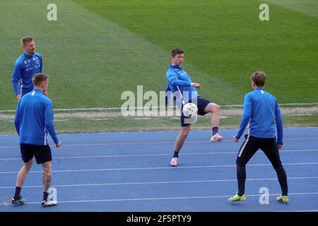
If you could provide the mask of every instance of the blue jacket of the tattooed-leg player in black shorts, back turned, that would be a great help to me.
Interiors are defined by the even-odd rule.
[[[20,143],[47,145],[47,133],[55,144],[59,143],[53,120],[52,100],[41,90],[34,89],[24,95],[18,103],[14,120]]]

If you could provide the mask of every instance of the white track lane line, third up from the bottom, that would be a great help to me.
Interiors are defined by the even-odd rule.
[[[297,162],[297,163],[284,163],[285,165],[318,165],[318,162]],[[249,164],[247,167],[263,167],[272,166],[271,164]],[[199,168],[218,168],[218,167],[236,167],[236,165],[203,165],[203,166],[191,166],[191,167],[138,167],[138,168],[115,168],[115,169],[63,169],[54,170],[54,173],[58,172],[102,172],[102,171],[122,171],[122,170],[151,170],[151,169],[199,169]],[[0,174],[17,174],[18,172],[0,172]],[[29,173],[42,173],[42,171],[30,171]]]

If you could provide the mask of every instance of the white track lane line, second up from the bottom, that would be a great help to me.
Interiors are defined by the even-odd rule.
[[[318,177],[288,177],[288,180],[293,179],[318,179]],[[249,178],[247,181],[276,181],[277,177],[273,178]],[[117,185],[140,185],[140,184],[195,184],[195,183],[213,183],[213,182],[236,182],[237,179],[209,179],[198,181],[175,181],[175,182],[127,182],[127,183],[103,183],[103,184],[60,184],[52,185],[54,188],[58,187],[73,187],[73,186],[117,186]],[[23,189],[42,188],[43,185],[23,186]],[[0,189],[14,189],[15,186],[0,186]]]

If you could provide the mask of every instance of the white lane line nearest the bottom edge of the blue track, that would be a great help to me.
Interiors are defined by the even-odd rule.
[[[290,193],[288,196],[309,196],[317,195],[318,192],[307,193]],[[281,194],[269,194],[269,196],[279,196]],[[116,199],[98,199],[98,200],[74,200],[74,201],[59,201],[59,203],[98,203],[98,202],[117,202],[117,201],[154,201],[154,200],[178,200],[178,199],[196,199],[196,198],[229,198],[232,195],[225,196],[185,196],[185,197],[154,197],[154,198],[116,198]],[[248,197],[259,197],[260,194],[251,194]],[[40,202],[28,202],[28,204],[40,204]],[[2,206],[7,206],[8,203],[0,203]]]

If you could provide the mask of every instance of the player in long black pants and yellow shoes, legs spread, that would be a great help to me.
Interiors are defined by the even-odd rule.
[[[238,192],[229,198],[229,201],[244,201],[246,199],[245,165],[260,148],[269,158],[271,165],[276,170],[278,182],[281,184],[282,193],[281,196],[277,197],[277,201],[288,203],[287,176],[278,151],[283,147],[281,109],[276,97],[264,90],[265,80],[265,73],[261,71],[253,73],[251,76],[253,91],[245,95],[242,121],[237,134],[233,136],[233,141],[237,143],[248,123],[249,133],[245,135],[245,142],[242,144],[236,159]]]

